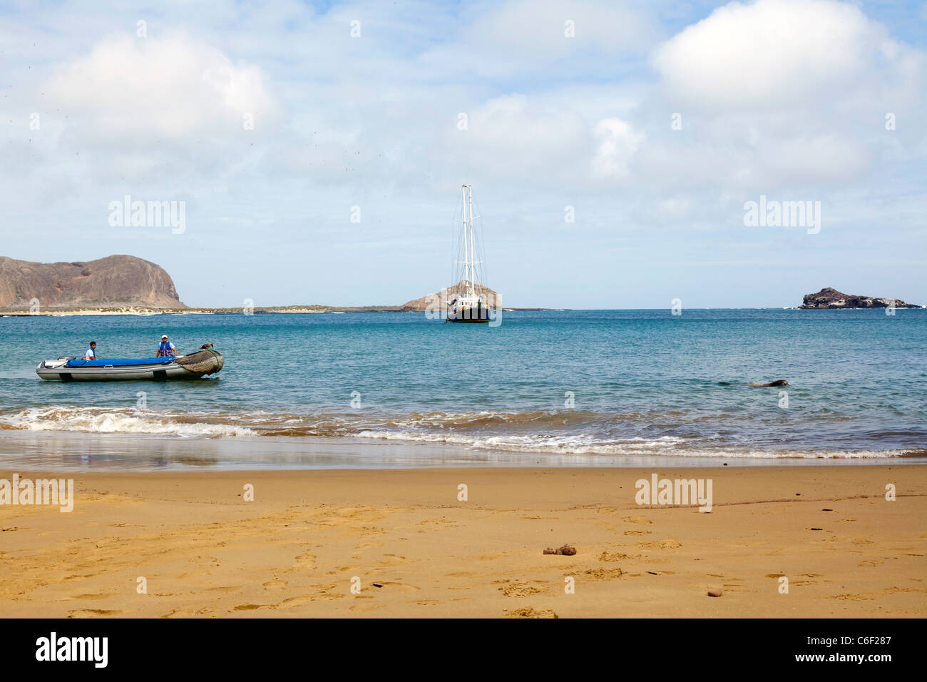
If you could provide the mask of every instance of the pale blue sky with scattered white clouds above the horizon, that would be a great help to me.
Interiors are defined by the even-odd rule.
[[[927,2],[0,0],[0,145],[0,255],[188,305],[436,291],[464,183],[507,306],[927,304]]]

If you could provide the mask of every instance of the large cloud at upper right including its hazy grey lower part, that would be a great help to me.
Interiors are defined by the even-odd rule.
[[[659,45],[652,63],[661,80],[649,106],[685,122],[661,142],[666,173],[644,163],[657,183],[680,168],[693,175],[679,182],[721,192],[860,182],[899,144],[917,147],[914,131],[886,132],[885,113],[911,121],[927,104],[924,53],[833,0],[730,3]]]

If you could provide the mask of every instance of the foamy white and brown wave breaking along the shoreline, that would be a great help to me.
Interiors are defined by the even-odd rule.
[[[834,416],[834,421],[840,421]],[[924,457],[922,448],[812,449],[737,443],[718,433],[737,415],[664,411],[604,414],[582,410],[500,413],[422,412],[294,415],[271,412],[167,413],[131,407],[45,406],[0,413],[0,429],[138,433],[177,438],[303,437],[447,444],[477,450],[591,456],[890,458]],[[707,423],[705,423],[707,422]],[[916,435],[916,434],[915,434]]]

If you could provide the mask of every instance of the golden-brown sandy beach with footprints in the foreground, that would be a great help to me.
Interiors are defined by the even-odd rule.
[[[636,504],[654,471],[711,512]],[[922,465],[52,475],[70,513],[0,507],[0,616],[927,615]]]

